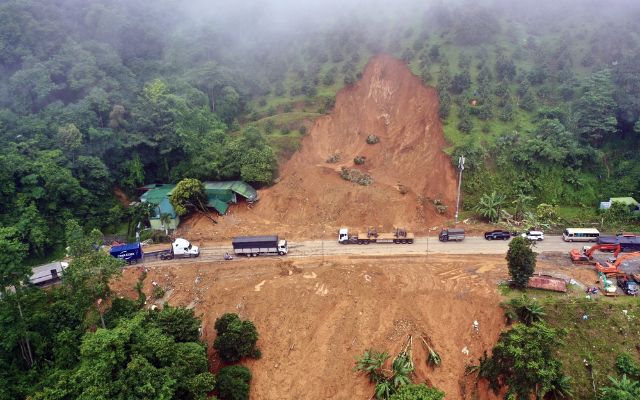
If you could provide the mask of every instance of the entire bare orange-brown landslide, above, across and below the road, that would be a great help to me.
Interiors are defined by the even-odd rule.
[[[380,143],[367,144],[369,134]],[[300,151],[281,167],[279,182],[259,191],[257,204],[231,207],[215,225],[198,216],[183,221],[177,235],[200,245],[201,257],[127,268],[112,288],[135,298],[135,284],[148,269],[148,306],[155,282],[165,290],[155,304],[195,310],[213,372],[221,367],[212,350],[216,318],[236,312],[252,320],[262,358],[243,361],[253,374],[251,399],[370,399],[374,388],[353,372],[355,358],[367,348],[395,356],[409,335],[416,339],[414,381],[441,388],[447,399],[497,399],[486,385],[476,388],[465,367],[490,351],[504,327],[498,291],[508,276],[504,252],[482,249],[506,249],[506,242],[469,238],[457,245],[493,254],[432,254],[449,250],[428,227],[450,221],[455,208],[456,174],[445,146],[435,89],[402,62],[374,57],[362,79],[337,95],[335,110],[316,120]],[[338,163],[325,162],[336,153]],[[340,178],[340,167],[356,168],[355,156],[366,157],[357,168],[371,174],[373,185]],[[409,192],[401,194],[399,184]],[[448,212],[439,215],[420,198],[441,199]],[[415,244],[397,245],[406,247],[352,250],[335,243],[340,226],[367,225],[403,226],[419,236]],[[229,238],[261,234],[286,237],[289,256],[222,261]],[[565,254],[559,239],[549,242],[547,251]],[[541,257],[538,269],[576,272],[559,260]],[[585,269],[585,279],[592,274]],[[440,367],[427,366],[420,336],[440,354]]]

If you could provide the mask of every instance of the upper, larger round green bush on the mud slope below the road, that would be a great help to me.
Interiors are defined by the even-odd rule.
[[[224,314],[214,327],[218,332],[213,347],[225,362],[237,362],[243,357],[260,357],[256,348],[258,331],[251,321],[242,321],[238,314]]]

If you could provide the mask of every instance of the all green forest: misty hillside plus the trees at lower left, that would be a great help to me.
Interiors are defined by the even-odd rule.
[[[566,220],[637,224],[627,209],[595,211],[640,198],[634,2],[181,3],[0,4],[0,399],[210,392],[193,315],[95,305],[119,267],[86,251],[95,229],[120,232],[144,214],[114,190],[271,184],[309,121],[380,52],[438,89],[446,151],[467,158],[468,213],[546,204]],[[77,257],[63,286],[18,285],[25,265],[65,246]],[[139,392],[121,391],[132,382]]]

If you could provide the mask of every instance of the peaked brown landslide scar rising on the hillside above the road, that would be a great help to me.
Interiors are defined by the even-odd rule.
[[[370,134],[380,143],[367,144]],[[232,207],[214,228],[202,218],[187,221],[189,233],[206,240],[253,227],[314,237],[322,226],[329,232],[367,225],[424,232],[445,217],[430,202],[421,207],[420,196],[441,199],[449,217],[455,211],[456,174],[445,146],[436,90],[423,86],[401,61],[374,57],[362,79],[338,93],[334,111],[315,121],[300,151],[282,166],[280,182],[261,190],[253,209]],[[336,153],[340,161],[327,163]],[[366,157],[365,164],[355,166],[356,156]],[[342,166],[369,173],[374,183],[343,180]],[[409,192],[401,194],[398,185]]]

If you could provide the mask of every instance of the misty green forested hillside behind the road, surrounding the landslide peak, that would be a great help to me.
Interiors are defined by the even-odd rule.
[[[438,88],[447,151],[467,158],[467,210],[495,192],[589,218],[609,196],[638,196],[636,5],[334,6],[5,2],[2,237],[37,259],[60,249],[66,219],[111,232],[132,218],[115,187],[269,184],[305,121],[379,52]]]

